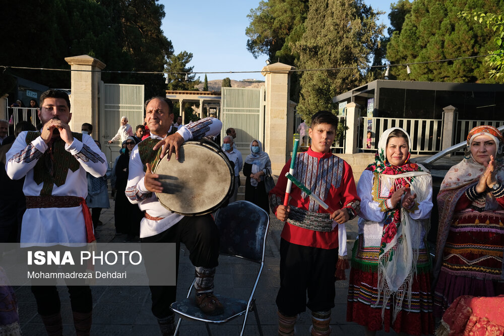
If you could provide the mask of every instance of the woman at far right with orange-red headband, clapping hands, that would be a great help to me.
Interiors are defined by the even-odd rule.
[[[503,143],[497,128],[474,127],[467,136],[464,159],[441,184],[434,266],[436,317],[461,295],[504,294]]]

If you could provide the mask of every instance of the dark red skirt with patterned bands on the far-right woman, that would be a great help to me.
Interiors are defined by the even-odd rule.
[[[465,210],[454,214],[434,291],[434,315],[462,295],[504,294],[502,212]]]

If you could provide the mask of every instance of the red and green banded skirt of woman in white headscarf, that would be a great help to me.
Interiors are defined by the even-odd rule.
[[[352,252],[352,269],[348,287],[347,321],[356,322],[369,330],[405,332],[410,335],[434,333],[430,274],[432,264],[427,249],[419,250],[417,273],[411,286],[411,306],[404,299],[402,308],[392,321],[391,307],[395,297],[387,302],[382,318],[383,295],[378,298],[378,254],[379,246],[363,247],[357,239]]]

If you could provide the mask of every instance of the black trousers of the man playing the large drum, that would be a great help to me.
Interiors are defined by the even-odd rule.
[[[216,267],[219,257],[219,233],[210,215],[188,217],[155,236],[142,238],[142,243],[176,243],[176,274],[178,277],[178,258],[180,243],[189,250],[189,259],[196,267]],[[145,258],[147,275],[158,265]],[[149,286],[152,297],[152,313],[157,318],[173,314],[170,304],[176,301],[176,286]]]

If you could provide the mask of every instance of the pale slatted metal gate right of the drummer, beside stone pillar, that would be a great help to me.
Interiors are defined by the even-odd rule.
[[[226,136],[227,128],[233,127],[236,130],[234,146],[238,150],[248,150],[253,140],[261,141],[264,149],[264,93],[264,87],[222,88],[221,138]]]

